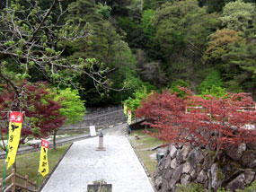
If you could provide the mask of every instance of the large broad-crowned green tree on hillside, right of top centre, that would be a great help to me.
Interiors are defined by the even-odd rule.
[[[171,81],[190,77],[194,80],[207,36],[218,24],[216,15],[207,14],[198,1],[186,0],[163,4],[152,20],[154,45],[159,46],[159,53],[155,55],[158,57],[154,59],[161,59],[163,71]]]

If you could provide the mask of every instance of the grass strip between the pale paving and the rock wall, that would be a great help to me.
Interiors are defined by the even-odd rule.
[[[157,130],[150,128],[148,129],[150,132],[156,132]],[[135,135],[138,135],[139,139],[135,139]],[[154,174],[154,170],[156,169],[157,161],[153,160],[150,155],[156,153],[156,151],[146,151],[146,149],[153,148],[164,144],[162,140],[155,138],[152,135],[148,135],[144,133],[144,130],[135,130],[131,135],[128,136],[130,143],[136,148],[137,153],[140,159],[146,166],[146,170],[152,177]]]

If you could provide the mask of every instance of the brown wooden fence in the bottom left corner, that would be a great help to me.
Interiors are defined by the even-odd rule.
[[[15,181],[16,178],[22,179],[24,181],[24,186],[22,186],[22,184],[16,183]],[[22,188],[24,189],[25,192],[37,191],[36,182],[31,182],[27,175],[25,177],[18,175],[17,173],[15,173],[14,169],[12,170],[12,173],[8,177],[6,177],[5,183],[8,180],[11,180],[11,184],[9,186],[6,186],[6,188],[3,189],[4,179],[0,179],[0,192],[7,192],[7,191],[10,191],[10,189],[12,189],[12,192],[15,192],[15,188]]]

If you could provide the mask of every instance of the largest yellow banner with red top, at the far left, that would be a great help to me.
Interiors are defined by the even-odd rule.
[[[9,137],[8,137],[8,162],[7,170],[16,160],[16,154],[20,144],[20,137],[22,131],[22,113],[11,112],[10,113],[10,123],[9,123]]]

